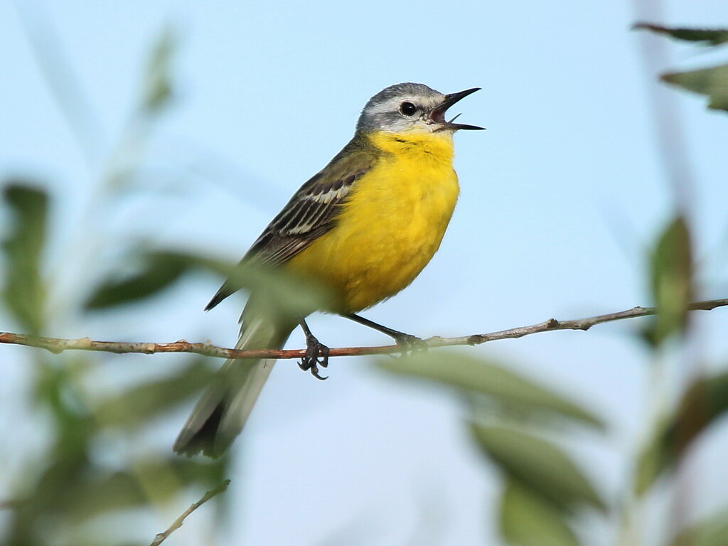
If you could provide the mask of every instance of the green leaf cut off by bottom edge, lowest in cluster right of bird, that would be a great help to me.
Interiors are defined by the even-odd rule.
[[[509,479],[500,501],[500,533],[512,546],[579,546],[565,515],[542,496]]]

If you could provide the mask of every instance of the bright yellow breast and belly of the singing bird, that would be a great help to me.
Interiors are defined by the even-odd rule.
[[[357,312],[395,295],[440,247],[459,192],[447,134],[378,133],[385,152],[355,183],[336,227],[287,269],[331,288],[336,312]]]

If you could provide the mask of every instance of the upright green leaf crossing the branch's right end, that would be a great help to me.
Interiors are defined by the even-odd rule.
[[[660,345],[687,328],[692,301],[692,244],[685,218],[676,216],[660,234],[652,253],[652,298],[657,315],[647,337]]]

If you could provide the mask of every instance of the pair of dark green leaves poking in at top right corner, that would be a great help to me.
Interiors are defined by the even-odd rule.
[[[716,47],[728,42],[728,29],[668,28],[640,23],[635,28],[665,34],[674,39],[702,43]],[[688,91],[708,95],[708,108],[728,111],[728,65],[701,68],[687,72],[671,72],[661,76],[663,82],[677,85]]]

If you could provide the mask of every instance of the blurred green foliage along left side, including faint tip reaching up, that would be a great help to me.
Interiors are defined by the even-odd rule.
[[[141,111],[134,113],[132,119],[151,124],[162,106],[169,103],[174,88],[170,77],[174,51],[171,33],[163,33],[147,63],[145,91],[138,105]],[[138,127],[132,124],[126,131],[121,141],[141,146]],[[139,160],[141,154],[134,157]],[[111,170],[106,168],[98,177],[100,189],[133,175],[138,167],[114,160],[108,161],[108,165]],[[68,326],[71,320],[76,321],[74,328],[82,329],[88,311],[98,314],[129,301],[151,304],[151,298],[189,270],[189,257],[162,253],[147,256],[141,245],[124,241],[127,256],[148,258],[146,270],[131,279],[105,280],[94,287],[95,271],[82,268],[88,278],[76,281],[92,287],[92,298],[85,304],[71,301],[72,307],[62,309],[60,317],[58,309],[51,317],[47,293],[58,287],[55,276],[45,270],[43,258],[51,254],[51,245],[62,242],[48,237],[48,218],[52,216],[55,199],[42,187],[41,183],[21,179],[3,183],[2,205],[7,210],[9,230],[2,244],[2,296],[8,314],[26,333],[46,333],[50,325],[62,321]],[[123,199],[122,194],[113,191],[100,191],[98,195],[99,199],[92,203],[94,207],[117,205],[116,201]],[[84,226],[84,232],[89,230],[94,231],[95,226]],[[85,250],[79,241],[71,242],[71,248]],[[52,254],[60,254],[66,260],[60,267],[82,259],[82,252],[71,256],[58,251]],[[95,264],[97,261],[92,260]],[[114,518],[122,522],[141,509],[151,513],[162,508],[165,514],[170,509],[181,512],[186,507],[182,502],[186,491],[205,491],[223,480],[228,466],[226,458],[215,462],[181,459],[172,454],[171,439],[161,446],[144,443],[144,448],[140,448],[141,438],[151,427],[178,406],[189,403],[210,381],[213,368],[207,359],[184,356],[178,359],[178,368],[173,373],[155,374],[154,379],[137,378],[131,383],[124,381],[124,387],[98,392],[89,390],[87,385],[98,377],[102,366],[108,365],[104,363],[108,355],[47,355],[41,351],[28,355],[33,363],[29,368],[33,419],[47,422],[48,436],[24,459],[23,467],[15,469],[13,490],[3,494],[0,544],[130,544],[137,530],[123,523],[111,523]],[[124,376],[119,368],[114,368],[114,373],[119,378]],[[20,426],[28,430],[29,424],[24,422]],[[20,429],[15,431],[18,432]],[[8,431],[4,440],[9,439]],[[218,509],[220,502],[218,499]],[[214,507],[211,503],[205,510],[214,511]],[[98,532],[98,525],[94,526],[101,521],[105,522],[103,534]],[[160,526],[169,523],[165,521]],[[149,544],[152,537],[139,543]]]

